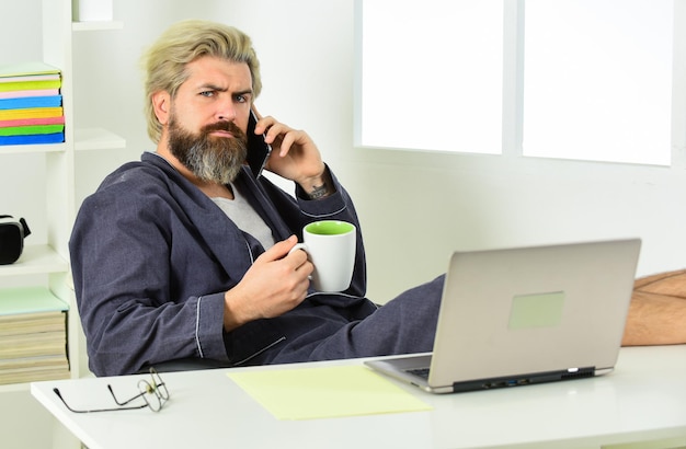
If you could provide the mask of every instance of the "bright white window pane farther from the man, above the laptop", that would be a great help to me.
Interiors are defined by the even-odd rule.
[[[670,163],[672,3],[526,0],[525,156]]]

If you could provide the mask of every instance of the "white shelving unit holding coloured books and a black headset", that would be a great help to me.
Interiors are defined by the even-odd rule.
[[[87,355],[84,337],[81,330],[71,278],[69,274],[69,250],[68,242],[71,227],[77,212],[75,180],[76,151],[102,151],[124,148],[124,138],[104,129],[88,128],[79,129],[75,123],[73,92],[78,89],[73,85],[73,55],[72,37],[73,33],[99,33],[102,31],[119,30],[121,22],[72,22],[72,0],[30,0],[39,2],[42,8],[42,30],[43,36],[42,53],[43,62],[58,68],[61,71],[61,95],[65,115],[65,142],[57,145],[32,145],[32,146],[2,146],[0,147],[0,161],[3,157],[11,154],[38,153],[45,157],[46,175],[44,179],[44,192],[47,222],[46,235],[32,235],[26,241],[26,246],[21,258],[12,264],[0,266],[0,289],[16,283],[16,279],[30,279],[26,283],[44,283],[45,287],[69,304],[68,312],[68,350],[70,371],[72,378],[82,377],[89,373],[87,367]],[[1,60],[0,60],[1,64]],[[2,163],[2,162],[0,162]],[[31,168],[18,168],[30,171]],[[2,180],[0,179],[0,187]],[[5,188],[8,186],[4,186]],[[16,193],[21,195],[21,193]],[[31,200],[31,198],[28,198]],[[11,211],[4,211],[8,214]],[[32,230],[36,228],[27,218]],[[42,244],[31,244],[33,241],[45,241]],[[39,280],[33,280],[39,279]],[[26,285],[30,287],[31,285]],[[33,284],[35,286],[35,284]],[[30,396],[27,383],[0,385],[0,401],[3,403],[0,410],[0,418],[7,428],[16,433],[45,433],[52,440],[52,428],[36,428],[36,424],[26,419],[5,407],[5,403],[14,404],[19,395],[25,395],[26,401],[33,401]],[[5,401],[5,398],[8,399]],[[19,405],[16,408],[21,410]],[[16,426],[8,424],[16,423]],[[49,427],[49,426],[48,426]],[[18,434],[19,435],[19,434]],[[3,441],[13,442],[12,435],[3,435]],[[4,446],[4,442],[3,442]],[[16,445],[10,445],[16,448]],[[9,447],[9,446],[8,446]],[[20,442],[20,448],[21,448]]]

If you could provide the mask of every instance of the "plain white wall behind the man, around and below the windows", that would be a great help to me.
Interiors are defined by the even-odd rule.
[[[77,118],[95,125],[104,117],[128,148],[80,154],[79,197],[152,148],[141,115],[141,49],[176,20],[211,19],[253,37],[264,81],[260,111],[306,129],[356,199],[371,299],[385,302],[433,278],[458,247],[638,235],[639,274],[686,266],[686,136],[675,136],[673,169],[356,149],[353,0],[115,0],[114,13],[123,31],[76,37]],[[428,92],[430,79],[421,81]],[[412,126],[425,113],[418,87],[398,94]]]

